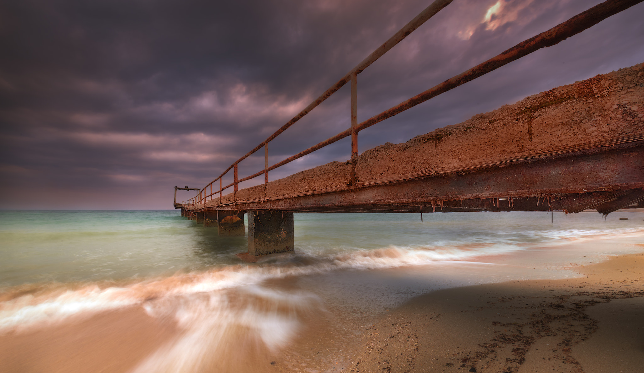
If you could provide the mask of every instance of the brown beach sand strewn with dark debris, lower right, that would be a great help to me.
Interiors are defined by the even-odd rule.
[[[585,276],[417,296],[334,351],[328,349],[328,340],[309,343],[313,347],[307,348],[327,350],[325,358],[310,359],[303,349],[292,349],[276,364],[283,368],[276,370],[644,371],[644,254],[621,255],[577,270]]]

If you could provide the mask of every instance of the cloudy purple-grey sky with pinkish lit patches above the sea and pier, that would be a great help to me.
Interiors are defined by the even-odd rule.
[[[598,3],[455,0],[358,75],[358,121]],[[171,209],[175,186],[219,176],[429,4],[0,0],[0,208]],[[642,14],[644,3],[378,123],[359,152],[644,62]],[[349,89],[272,141],[269,165],[350,127]],[[348,158],[345,138],[269,179]],[[240,178],[261,169],[263,151]]]

